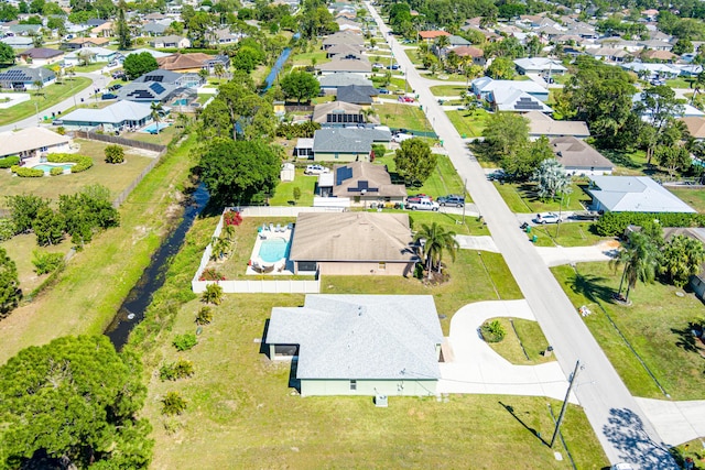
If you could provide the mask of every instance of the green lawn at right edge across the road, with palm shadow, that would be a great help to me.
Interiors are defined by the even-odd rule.
[[[552,271],[576,310],[586,305],[593,311],[585,317],[585,324],[632,394],[664,400],[598,305],[609,314],[673,400],[703,397],[703,356],[698,353],[688,321],[702,316],[705,307],[692,293],[679,296],[676,293],[682,289],[673,286],[639,283],[629,296],[633,304],[626,307],[611,303],[621,272],[615,272],[607,263],[579,263],[577,275],[571,266],[552,267]]]

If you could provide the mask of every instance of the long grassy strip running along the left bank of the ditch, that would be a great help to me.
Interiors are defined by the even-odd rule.
[[[23,348],[59,336],[104,331],[149,264],[166,227],[181,214],[178,192],[193,165],[195,143],[193,136],[150,172],[120,207],[120,227],[95,237],[51,291],[0,321],[0,363]]]

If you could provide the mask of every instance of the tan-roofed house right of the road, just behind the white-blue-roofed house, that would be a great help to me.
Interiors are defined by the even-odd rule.
[[[615,170],[601,153],[572,135],[552,139],[551,150],[570,175],[610,175]]]

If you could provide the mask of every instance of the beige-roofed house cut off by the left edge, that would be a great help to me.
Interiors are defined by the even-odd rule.
[[[18,155],[21,160],[47,153],[64,153],[70,149],[72,139],[45,128],[26,128],[17,132],[0,132],[0,159]]]

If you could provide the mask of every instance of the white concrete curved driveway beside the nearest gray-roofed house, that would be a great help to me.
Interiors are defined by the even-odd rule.
[[[494,317],[534,320],[527,300],[478,302],[460,308],[451,320],[447,338],[452,354],[441,363],[438,393],[482,393],[550,396],[563,400],[568,383],[557,362],[514,365],[499,356],[480,337],[479,327]],[[508,331],[508,335],[513,335]],[[577,400],[571,394],[571,402]]]

